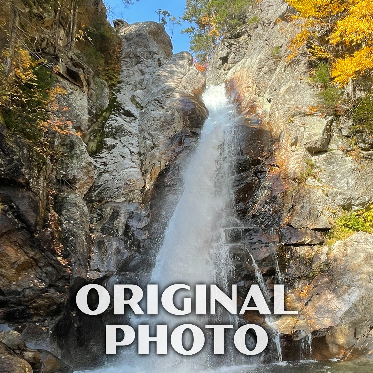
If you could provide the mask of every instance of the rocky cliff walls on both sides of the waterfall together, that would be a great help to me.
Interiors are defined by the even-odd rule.
[[[15,6],[28,14],[23,2]],[[21,22],[19,12],[5,12]],[[224,39],[206,73],[208,84],[225,82],[243,114],[234,178],[241,226],[226,230],[235,281],[245,295],[258,264],[269,289],[286,284],[287,306],[299,314],[276,320],[284,359],[300,357],[310,334],[313,357],[370,358],[372,235],[358,232],[333,245],[326,237],[344,210],[373,203],[370,140],[359,135],[362,156],[351,157],[348,117],[310,110],[319,88],[309,82],[307,57],[286,61],[295,32],[286,18],[291,12],[283,0],[262,0],[260,22]],[[82,14],[106,22],[101,1],[84,1],[77,22]],[[66,28],[51,29],[50,19],[38,34],[40,53],[53,53],[48,40]],[[76,309],[76,292],[89,282],[109,289],[146,282],[207,117],[205,78],[189,53],[172,54],[162,25],[116,21],[115,29],[121,66],[111,91],[82,51],[66,50],[63,34],[55,78],[67,94],[58,98],[57,113],[71,124],[67,134],[50,130],[52,155],[0,120],[4,372],[39,372],[51,361],[50,372],[70,372],[65,363],[100,362],[104,341],[97,336],[103,338],[111,312],[85,316]],[[267,327],[251,314],[245,319]]]

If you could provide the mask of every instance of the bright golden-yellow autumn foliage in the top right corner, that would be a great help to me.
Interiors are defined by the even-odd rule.
[[[293,38],[295,57],[306,44],[315,59],[331,63],[331,76],[340,85],[366,74],[373,87],[373,1],[288,0],[297,11],[301,31]]]

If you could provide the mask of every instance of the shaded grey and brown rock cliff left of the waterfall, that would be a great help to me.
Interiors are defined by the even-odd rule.
[[[85,6],[106,22],[101,1],[82,4],[79,14]],[[154,185],[175,169],[207,117],[205,78],[189,53],[172,54],[163,25],[117,21],[116,33],[122,66],[110,105],[107,82],[84,55],[72,49],[61,57],[56,83],[67,94],[58,98],[58,115],[71,124],[67,134],[51,130],[56,158],[0,123],[1,329],[16,329],[38,351],[13,348],[4,336],[5,372],[40,371],[42,350],[75,368],[98,364],[104,341],[97,335],[104,338],[110,312],[85,319],[75,294],[119,276],[144,282],[154,255]],[[70,372],[58,361],[59,372]]]

